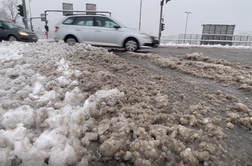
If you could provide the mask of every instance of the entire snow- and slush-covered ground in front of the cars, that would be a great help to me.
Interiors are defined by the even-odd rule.
[[[164,49],[1,43],[1,165],[251,163],[250,50]]]

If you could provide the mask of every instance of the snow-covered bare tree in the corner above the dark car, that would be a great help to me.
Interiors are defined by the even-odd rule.
[[[3,7],[7,12],[9,12],[12,20],[16,20],[17,18],[17,15],[18,15],[17,5],[18,5],[18,0],[4,0],[3,1]]]

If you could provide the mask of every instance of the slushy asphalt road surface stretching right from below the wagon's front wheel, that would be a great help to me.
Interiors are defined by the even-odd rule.
[[[110,51],[153,76],[159,75],[165,85],[160,91],[168,95],[171,109],[177,105],[176,112],[183,114],[199,103],[211,107],[205,118],[225,133],[225,138],[220,134],[211,140],[225,149],[225,155],[220,157],[223,165],[252,162],[252,121],[246,119],[252,116],[251,49],[162,47],[139,53]],[[191,146],[195,148],[197,143]]]

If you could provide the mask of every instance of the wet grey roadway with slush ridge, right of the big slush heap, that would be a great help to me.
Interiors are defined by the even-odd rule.
[[[115,53],[129,63],[141,66],[153,74],[162,75],[166,79],[172,80],[170,81],[170,84],[173,83],[172,90],[166,88],[164,93],[169,95],[171,103],[180,102],[181,112],[196,103],[210,103],[210,105],[214,105],[212,107],[214,113],[208,116],[220,118],[222,127],[227,129],[230,125],[230,119],[225,118],[227,115],[224,112],[233,109],[230,108],[234,104],[231,98],[234,97],[237,102],[245,103],[249,108],[252,108],[251,49],[162,47],[141,50],[140,52],[144,52],[144,54]],[[154,55],[148,53],[154,53]],[[186,54],[189,55],[186,56]],[[189,65],[186,65],[187,63]],[[197,66],[198,63],[200,63],[199,66]],[[197,66],[196,69],[195,66]],[[224,72],[220,72],[223,67],[228,67],[229,70],[234,69],[235,72],[227,72],[225,69]],[[246,77],[243,77],[242,74],[237,75],[238,70],[236,68],[243,68],[242,73],[248,75]],[[206,73],[208,74],[206,75]],[[248,82],[245,82],[248,84],[243,84],[242,79],[247,79]],[[229,98],[224,102],[225,104],[220,101],[223,99],[217,97],[218,95],[216,96],[220,91],[227,95],[224,100]],[[181,102],[181,97],[185,98],[185,96],[186,100]],[[249,120],[250,122],[246,123],[243,120],[240,121],[243,125],[235,127],[234,131],[229,129],[225,131],[227,137],[224,140],[229,151],[232,152],[230,155],[239,158],[241,165],[252,161],[250,157],[252,155],[251,147],[247,146],[251,144],[251,132],[243,128],[244,124],[245,126],[250,125],[251,121]],[[237,123],[236,118],[231,121]],[[227,124],[225,124],[226,122]]]

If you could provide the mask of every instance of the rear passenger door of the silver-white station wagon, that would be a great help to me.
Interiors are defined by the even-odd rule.
[[[79,42],[93,44],[95,42],[94,17],[80,16],[73,23],[75,34]]]

